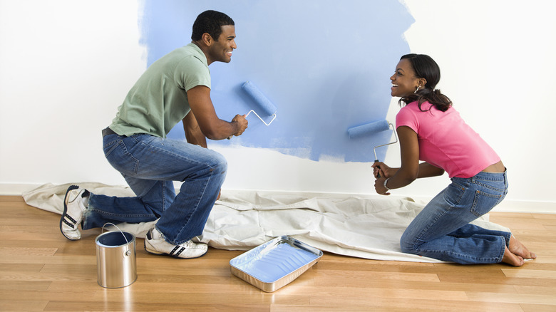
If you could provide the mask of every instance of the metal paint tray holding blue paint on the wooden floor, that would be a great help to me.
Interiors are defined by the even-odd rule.
[[[289,236],[278,236],[230,260],[232,274],[272,292],[316,264],[322,251]]]

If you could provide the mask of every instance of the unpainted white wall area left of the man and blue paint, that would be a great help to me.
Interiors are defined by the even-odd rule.
[[[138,3],[0,1],[0,182],[122,183],[101,129],[145,71]]]

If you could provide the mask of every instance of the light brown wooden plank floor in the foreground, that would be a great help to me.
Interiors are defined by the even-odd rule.
[[[98,286],[100,232],[68,241],[59,215],[0,197],[1,311],[556,311],[556,215],[493,212],[538,258],[521,268],[374,261],[325,253],[274,293],[230,274],[242,251],[153,256],[137,239],[135,283]]]

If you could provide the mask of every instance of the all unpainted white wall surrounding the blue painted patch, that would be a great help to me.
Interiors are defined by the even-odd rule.
[[[416,19],[406,32],[411,51],[435,58],[443,75],[438,87],[508,167],[505,207],[556,212],[550,16],[556,4],[405,3]],[[133,0],[0,0],[0,194],[47,182],[125,184],[103,157],[100,130],[145,70],[140,11]],[[229,161],[225,189],[374,194],[369,163],[314,162],[240,146],[215,150]],[[398,165],[398,151],[389,148],[386,162]],[[447,183],[446,176],[431,178],[393,194],[431,197]]]

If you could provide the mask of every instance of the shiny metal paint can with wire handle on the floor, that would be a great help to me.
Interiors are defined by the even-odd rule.
[[[125,287],[137,279],[135,235],[128,232],[105,232],[96,243],[98,285],[105,288]]]

